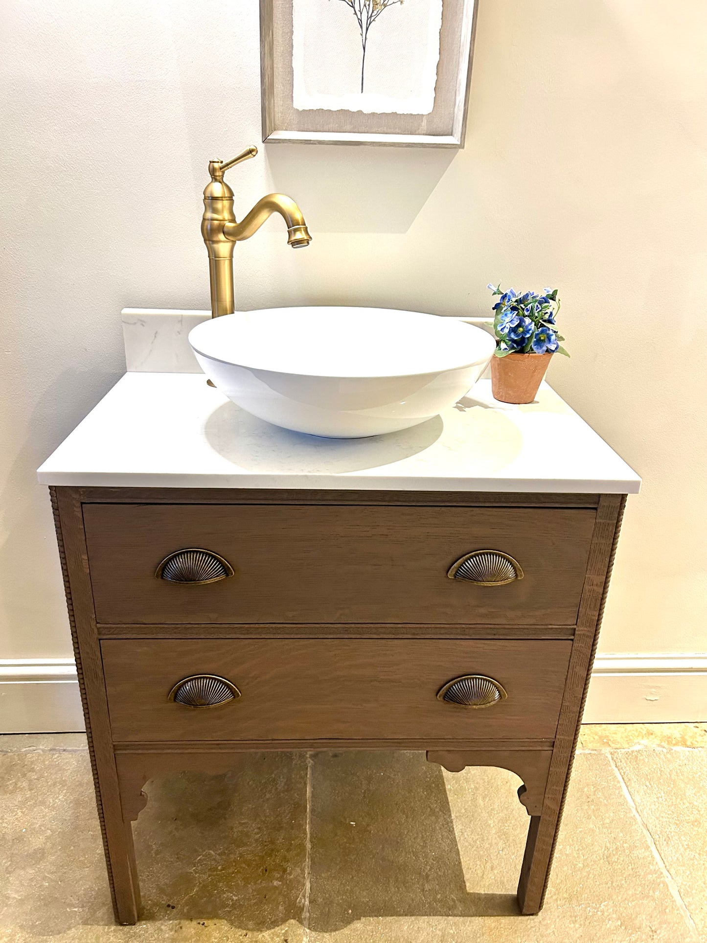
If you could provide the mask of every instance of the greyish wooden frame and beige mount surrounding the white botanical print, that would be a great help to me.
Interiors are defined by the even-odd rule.
[[[294,108],[293,0],[260,0],[263,141],[463,147],[476,8],[477,0],[442,0],[435,101],[429,113],[370,113]]]

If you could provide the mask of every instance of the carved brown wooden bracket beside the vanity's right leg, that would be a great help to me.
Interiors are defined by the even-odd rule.
[[[430,763],[438,763],[450,772],[461,772],[468,766],[494,766],[510,769],[523,781],[518,786],[518,799],[529,816],[539,816],[548,782],[551,750],[428,750]]]

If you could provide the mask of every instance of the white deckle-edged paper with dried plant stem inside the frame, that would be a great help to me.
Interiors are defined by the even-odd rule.
[[[429,114],[442,0],[292,0],[292,104]]]

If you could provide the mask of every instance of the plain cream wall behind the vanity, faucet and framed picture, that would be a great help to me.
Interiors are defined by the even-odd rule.
[[[604,652],[707,649],[706,44],[703,0],[480,0],[464,151],[231,172],[241,215],[284,190],[315,237],[239,245],[240,306],[481,315],[488,281],[559,286],[551,381],[645,481]],[[258,70],[256,0],[0,8],[0,658],[71,653],[35,468],[123,371],[123,306],[207,306],[206,163],[260,142]]]

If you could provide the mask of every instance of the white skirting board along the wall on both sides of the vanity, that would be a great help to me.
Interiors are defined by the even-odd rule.
[[[707,653],[597,657],[584,723],[707,721]],[[72,658],[0,660],[0,733],[84,729]]]

